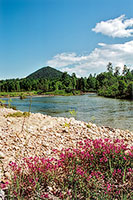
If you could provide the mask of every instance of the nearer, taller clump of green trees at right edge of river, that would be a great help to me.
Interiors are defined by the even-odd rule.
[[[104,72],[96,77],[98,95],[113,98],[133,99],[133,73],[124,65],[122,75],[119,67],[114,74]]]

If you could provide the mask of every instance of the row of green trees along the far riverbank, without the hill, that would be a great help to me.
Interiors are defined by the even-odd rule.
[[[97,92],[98,95],[113,98],[133,97],[133,71],[124,65],[120,74],[120,68],[113,69],[112,63],[107,65],[107,71],[90,74],[88,78],[77,78],[73,73],[71,76],[64,72],[61,78],[56,79],[9,79],[0,81],[0,92],[25,92],[38,91],[38,93],[64,90],[66,93],[76,94],[81,92]]]

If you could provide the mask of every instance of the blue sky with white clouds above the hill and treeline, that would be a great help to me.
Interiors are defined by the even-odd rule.
[[[133,69],[133,0],[0,0],[0,79]]]

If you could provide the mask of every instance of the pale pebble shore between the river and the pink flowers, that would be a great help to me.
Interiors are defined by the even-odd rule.
[[[76,147],[86,138],[123,139],[129,148],[133,144],[133,133],[74,118],[51,117],[40,113],[30,116],[12,117],[18,111],[0,108],[0,182],[10,180],[9,163],[21,162],[29,156],[52,156],[52,149]]]

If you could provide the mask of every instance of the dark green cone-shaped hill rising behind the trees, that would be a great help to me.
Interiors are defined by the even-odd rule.
[[[56,70],[56,69],[48,66],[48,67],[43,67],[43,68],[33,72],[32,74],[30,74],[26,78],[30,78],[30,79],[38,79],[38,78],[54,79],[54,78],[61,78],[62,74],[63,73],[61,71]]]

